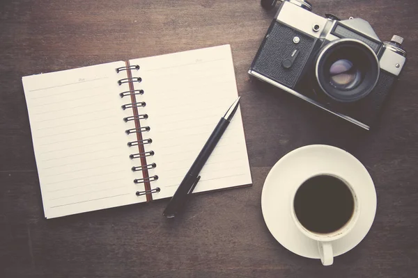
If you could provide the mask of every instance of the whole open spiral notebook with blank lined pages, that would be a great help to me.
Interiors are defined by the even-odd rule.
[[[238,97],[229,45],[22,81],[46,218],[171,197]],[[194,193],[249,184],[238,110]]]

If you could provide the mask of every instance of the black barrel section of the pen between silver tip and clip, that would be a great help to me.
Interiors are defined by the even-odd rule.
[[[206,161],[208,161],[210,154],[212,154],[213,149],[215,149],[217,143],[222,138],[222,134],[224,134],[224,131],[228,125],[229,121],[225,120],[223,117],[221,120],[219,120],[217,126],[212,131],[212,134],[210,134],[209,139],[206,141],[206,144],[203,146],[201,152],[196,157],[192,167],[190,167],[189,172],[187,172],[188,174],[199,174],[203,168],[203,165],[205,165]]]

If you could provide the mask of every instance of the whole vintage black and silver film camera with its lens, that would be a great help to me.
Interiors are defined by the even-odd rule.
[[[364,19],[311,9],[282,1],[249,74],[370,129],[405,65],[403,38],[382,42]]]

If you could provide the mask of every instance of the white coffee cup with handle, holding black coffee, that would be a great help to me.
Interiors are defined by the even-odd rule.
[[[353,197],[353,213],[351,214],[349,220],[345,224],[343,224],[341,227],[339,227],[339,229],[336,229],[334,231],[327,232],[327,233],[319,233],[319,232],[311,231],[307,229],[307,227],[305,227],[304,224],[302,224],[300,220],[297,218],[297,214],[295,212],[295,196],[296,196],[297,190],[299,190],[299,188],[309,179],[314,178],[314,177],[320,177],[320,176],[321,177],[328,176],[328,177],[334,177],[336,179],[339,179],[340,181],[345,183],[345,185],[350,190],[350,193]],[[327,196],[327,197],[330,197],[330,196]],[[357,196],[355,192],[355,189],[353,188],[353,186],[350,185],[350,183],[348,183],[346,180],[344,180],[341,177],[336,177],[335,174],[322,173],[322,174],[315,174],[309,177],[308,179],[306,179],[303,183],[301,183],[300,186],[296,188],[294,193],[291,194],[291,198],[292,198],[291,199],[291,214],[292,214],[292,218],[293,218],[293,221],[295,222],[297,229],[299,229],[302,232],[302,234],[304,234],[304,236],[307,236],[317,241],[320,261],[323,263],[323,265],[332,265],[332,263],[334,262],[332,242],[334,240],[343,238],[348,233],[350,233],[353,227],[355,227],[355,224],[359,218],[360,202],[359,202],[359,197]]]

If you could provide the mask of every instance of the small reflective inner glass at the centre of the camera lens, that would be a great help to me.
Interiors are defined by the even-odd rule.
[[[350,60],[336,60],[330,67],[330,84],[340,90],[350,90],[362,81],[362,72]]]

